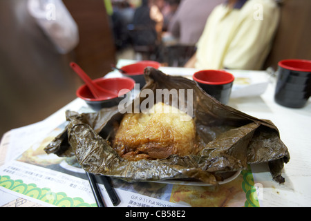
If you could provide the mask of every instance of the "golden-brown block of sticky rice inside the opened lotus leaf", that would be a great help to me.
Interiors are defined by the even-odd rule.
[[[157,103],[149,113],[127,113],[117,128],[113,148],[128,160],[164,159],[196,151],[193,119],[182,120],[186,113]]]

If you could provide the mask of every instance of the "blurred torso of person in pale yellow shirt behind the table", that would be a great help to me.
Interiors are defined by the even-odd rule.
[[[279,14],[274,0],[229,0],[216,6],[185,67],[260,70]]]

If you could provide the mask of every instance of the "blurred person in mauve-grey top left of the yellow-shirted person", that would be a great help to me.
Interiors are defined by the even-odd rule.
[[[168,32],[178,43],[195,45],[211,11],[225,0],[183,0],[168,24]]]

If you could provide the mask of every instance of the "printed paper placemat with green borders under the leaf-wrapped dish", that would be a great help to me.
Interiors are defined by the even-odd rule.
[[[36,125],[39,131],[43,124]],[[63,123],[50,133],[41,135],[41,140],[3,164],[0,167],[0,190],[17,195],[20,204],[26,199],[42,206],[97,206],[79,165],[67,157],[47,155],[43,150],[65,126],[66,123]],[[10,137],[18,137],[18,133],[24,133],[23,128],[13,131],[5,142],[1,142],[1,150],[3,146],[12,144]],[[10,148],[17,150],[18,146]],[[218,186],[111,181],[121,200],[118,205],[121,207],[259,206],[250,169],[242,171],[232,182]],[[104,185],[99,184],[99,187],[106,206],[113,206]],[[0,202],[3,200],[6,199]]]

